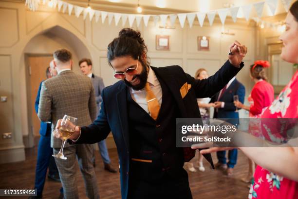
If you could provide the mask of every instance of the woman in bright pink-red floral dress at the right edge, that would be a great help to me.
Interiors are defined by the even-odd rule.
[[[290,7],[285,19],[285,32],[279,37],[283,43],[281,59],[298,63],[298,1]],[[291,81],[281,91],[278,98],[261,114],[261,132],[270,140],[268,132],[278,132],[280,129],[269,123],[278,118],[298,119],[298,71]],[[268,119],[269,118],[269,119]],[[268,123],[266,123],[268,122]],[[298,128],[297,123],[294,128]],[[293,126],[292,125],[292,126]],[[265,129],[263,126],[266,126]],[[284,129],[287,130],[287,129]],[[277,134],[275,134],[278,136]],[[280,136],[280,135],[279,135]],[[255,138],[255,137],[254,137]],[[280,138],[279,138],[280,139]],[[261,140],[261,139],[260,139]],[[298,198],[298,138],[280,145],[285,147],[239,147],[240,150],[259,166],[256,168],[252,180],[249,198],[257,199],[297,199]],[[194,146],[204,148],[206,145]],[[202,150],[201,153],[226,150],[226,148],[213,147]]]

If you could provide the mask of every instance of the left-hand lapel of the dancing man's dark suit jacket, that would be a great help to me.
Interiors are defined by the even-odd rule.
[[[127,149],[130,149],[129,131],[128,131],[128,115],[127,115],[127,87],[124,83],[119,86],[119,92],[116,93],[118,116],[120,127]]]

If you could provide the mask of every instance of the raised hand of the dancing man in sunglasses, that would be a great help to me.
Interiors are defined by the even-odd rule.
[[[242,45],[239,41],[235,40],[234,43],[231,44],[229,47],[228,58],[230,63],[235,67],[239,67],[246,53],[247,47],[245,45]]]

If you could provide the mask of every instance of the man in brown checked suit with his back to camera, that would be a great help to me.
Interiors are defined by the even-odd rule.
[[[94,89],[88,77],[71,71],[72,54],[66,49],[54,52],[54,65],[58,75],[42,83],[38,106],[38,118],[52,122],[52,132],[58,119],[64,115],[77,118],[78,125],[89,125],[96,117]],[[54,154],[59,152],[61,140],[52,137]],[[55,158],[65,199],[78,198],[75,161],[78,160],[90,199],[99,198],[96,176],[91,161],[91,144],[65,144],[63,154],[67,160]]]

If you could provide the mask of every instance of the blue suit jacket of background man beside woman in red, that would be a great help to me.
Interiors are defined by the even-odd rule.
[[[223,101],[224,102],[224,107],[219,108],[218,112],[214,111],[214,118],[235,118],[231,122],[234,125],[239,123],[239,113],[235,112],[236,111],[236,106],[234,105],[234,95],[238,95],[239,101],[241,103],[244,102],[245,98],[245,87],[243,86],[242,83],[240,83],[237,79],[235,79],[229,87],[225,90],[223,93],[223,96],[219,99],[219,93],[215,94],[210,102],[215,102],[215,101]]]

